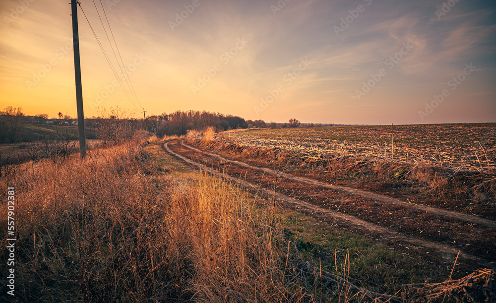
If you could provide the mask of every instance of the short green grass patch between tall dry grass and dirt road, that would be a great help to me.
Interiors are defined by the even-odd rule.
[[[427,264],[397,253],[370,239],[345,232],[304,214],[284,210],[282,226],[292,231],[289,239],[296,243],[300,257],[323,270],[335,272],[351,256],[351,281],[362,287],[393,295],[402,284],[424,282],[429,276]],[[339,271],[344,275],[344,271]]]

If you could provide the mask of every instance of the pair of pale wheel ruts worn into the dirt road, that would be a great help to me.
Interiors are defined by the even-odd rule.
[[[169,143],[164,144],[164,148],[166,149],[166,151],[175,155],[176,157],[182,159],[186,163],[193,165],[197,168],[200,168],[204,171],[207,171],[210,174],[221,176],[223,178],[228,178],[229,180],[231,180],[233,182],[237,182],[237,183],[241,184],[242,186],[250,189],[251,191],[261,193],[262,195],[264,195],[266,197],[273,197],[273,195],[274,195],[273,189],[268,189],[266,187],[263,187],[263,186],[260,186],[260,185],[254,184],[254,183],[241,180],[239,177],[228,176],[228,175],[221,173],[221,172],[219,172],[213,168],[210,168],[210,167],[207,167],[203,164],[197,163],[196,161],[193,161],[192,159],[188,159],[185,156],[180,155],[179,150],[176,150],[178,152],[171,150],[171,148],[169,148],[169,146],[168,146]],[[271,175],[277,174],[278,176],[281,176],[285,179],[292,180],[295,182],[302,182],[302,183],[307,183],[307,184],[311,184],[311,185],[318,185],[318,186],[321,186],[324,188],[340,190],[340,191],[344,191],[347,193],[351,193],[353,195],[359,195],[359,196],[364,196],[367,198],[379,200],[379,201],[382,201],[385,203],[400,205],[400,206],[404,206],[404,207],[408,207],[408,208],[414,208],[414,209],[417,209],[417,210],[422,211],[422,212],[430,212],[430,213],[434,213],[434,214],[437,214],[440,216],[445,216],[445,217],[455,218],[455,219],[462,220],[462,221],[477,223],[477,224],[484,225],[484,226],[489,227],[489,228],[493,228],[496,226],[494,221],[479,218],[476,216],[461,214],[461,213],[457,213],[457,212],[453,212],[453,211],[447,211],[447,210],[438,209],[438,208],[429,207],[429,206],[418,205],[418,204],[414,204],[414,203],[406,203],[406,202],[403,202],[403,201],[395,199],[395,198],[375,194],[372,192],[357,190],[357,189],[353,189],[353,188],[349,188],[349,187],[345,187],[345,186],[332,185],[332,184],[328,184],[328,183],[324,183],[324,182],[318,182],[318,181],[311,180],[308,178],[296,177],[296,176],[293,176],[293,175],[290,175],[287,173],[281,173],[281,172],[277,172],[275,170],[271,170],[271,169],[267,169],[267,168],[259,168],[259,167],[255,167],[255,166],[243,163],[243,162],[225,159],[221,156],[195,149],[191,146],[184,144],[183,141],[181,141],[181,147],[187,148],[191,152],[197,153],[198,155],[206,155],[206,156],[213,158],[213,159],[216,159],[218,161],[227,162],[230,164],[234,164],[234,165],[237,165],[240,167],[249,168],[252,170],[263,171],[263,172],[265,172],[267,174],[271,174]],[[183,152],[183,154],[186,154],[186,152]],[[456,247],[452,247],[450,245],[446,245],[446,244],[441,243],[441,242],[433,242],[433,241],[428,241],[426,239],[418,239],[416,237],[410,237],[410,236],[404,235],[398,231],[394,231],[394,230],[388,229],[386,227],[376,225],[372,222],[362,220],[362,219],[357,218],[355,216],[341,213],[341,212],[337,212],[337,211],[333,211],[331,209],[321,207],[321,206],[315,205],[313,203],[309,203],[309,202],[304,201],[302,199],[296,199],[294,197],[290,197],[290,196],[285,195],[285,194],[280,193],[280,192],[276,192],[275,195],[276,195],[276,199],[278,201],[282,202],[282,204],[284,204],[286,207],[291,207],[293,209],[297,209],[297,210],[309,213],[313,216],[319,217],[319,219],[324,219],[324,221],[327,221],[327,222],[331,222],[331,223],[337,222],[342,227],[345,227],[345,228],[348,227],[348,228],[355,230],[355,231],[366,230],[367,233],[365,233],[365,234],[368,234],[372,238],[380,239],[381,241],[393,242],[396,245],[396,247],[398,244],[400,246],[414,246],[414,247],[415,246],[421,246],[427,250],[435,251],[438,254],[439,258],[450,259],[450,260],[453,260],[459,251]],[[371,233],[372,233],[372,235],[371,235]],[[429,253],[429,252],[427,252],[427,253]],[[430,256],[432,256],[432,254]],[[494,267],[493,262],[488,262],[488,260],[485,260],[483,258],[479,258],[477,256],[471,255],[470,253],[466,253],[463,251],[460,252],[460,258],[466,259],[466,260],[471,260],[472,262],[476,262],[480,266],[486,266],[486,267],[490,267],[490,268]]]

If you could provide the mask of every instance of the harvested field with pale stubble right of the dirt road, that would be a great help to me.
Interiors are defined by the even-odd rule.
[[[391,137],[392,135],[392,137]],[[496,168],[496,123],[258,129],[225,135],[240,146],[308,156],[374,157],[462,170]]]

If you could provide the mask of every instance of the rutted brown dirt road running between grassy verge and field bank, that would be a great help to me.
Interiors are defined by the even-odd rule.
[[[456,271],[460,275],[481,267],[495,268],[496,222],[493,220],[316,181],[301,177],[301,172],[278,173],[207,154],[181,143],[169,142],[165,148],[191,165],[214,174],[227,173],[231,180],[267,197],[274,193],[275,187],[276,199],[285,207],[371,237],[436,265],[452,264],[461,251]]]

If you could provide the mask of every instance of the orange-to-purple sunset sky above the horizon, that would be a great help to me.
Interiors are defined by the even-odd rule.
[[[86,117],[496,122],[493,0],[80,2]],[[0,1],[0,110],[77,115],[68,3]]]

